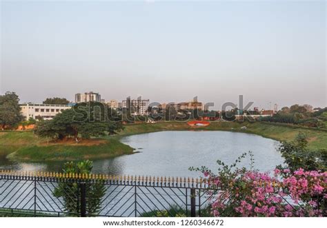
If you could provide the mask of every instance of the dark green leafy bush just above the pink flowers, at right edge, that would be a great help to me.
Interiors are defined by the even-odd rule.
[[[299,133],[292,142],[281,142],[279,152],[285,159],[288,168],[295,171],[299,168],[305,170],[327,170],[327,150],[308,149],[306,134]],[[281,168],[281,167],[279,167]]]

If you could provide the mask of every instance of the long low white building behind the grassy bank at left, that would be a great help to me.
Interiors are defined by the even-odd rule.
[[[21,104],[21,113],[25,116],[26,120],[29,118],[37,119],[41,117],[44,120],[50,120],[53,116],[57,115],[63,110],[68,110],[72,105],[46,105],[46,104]]]

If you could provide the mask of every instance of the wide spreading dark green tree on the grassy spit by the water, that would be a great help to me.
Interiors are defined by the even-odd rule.
[[[41,137],[58,139],[90,138],[116,134],[122,129],[115,110],[103,103],[79,103],[70,110],[54,116],[52,121],[38,123],[35,133]]]

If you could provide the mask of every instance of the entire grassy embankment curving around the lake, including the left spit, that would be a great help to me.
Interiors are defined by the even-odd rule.
[[[241,129],[246,126],[247,129]],[[211,123],[208,127],[190,127],[186,123],[156,123],[126,125],[118,136],[95,138],[76,144],[73,141],[47,143],[32,132],[1,132],[0,156],[14,160],[81,160],[110,158],[122,154],[131,154],[132,148],[119,142],[122,136],[160,132],[169,130],[223,130],[258,134],[277,141],[291,141],[299,132],[309,139],[310,149],[327,149],[327,132],[319,129],[306,129],[273,125],[269,123]],[[9,155],[8,155],[9,154]]]

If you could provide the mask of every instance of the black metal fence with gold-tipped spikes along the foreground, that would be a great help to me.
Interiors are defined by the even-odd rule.
[[[193,178],[0,171],[0,216],[203,216],[205,189]]]

